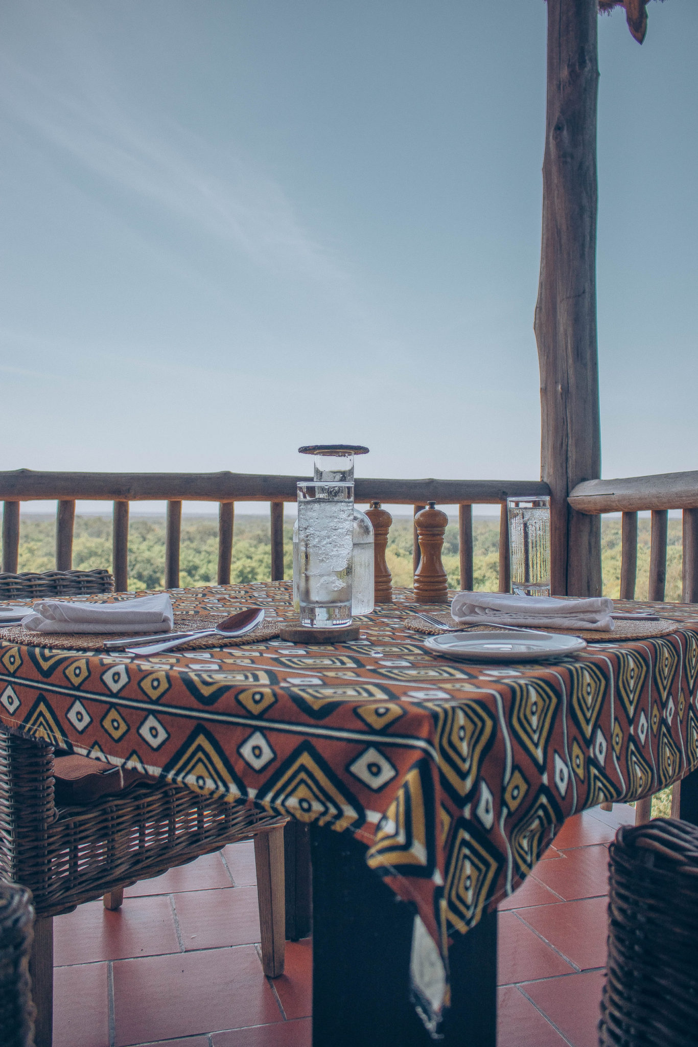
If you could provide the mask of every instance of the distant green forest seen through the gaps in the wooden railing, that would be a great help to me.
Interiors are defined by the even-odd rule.
[[[284,528],[285,573],[290,578],[293,521]],[[109,516],[76,516],[73,566],[109,567],[112,557],[112,522]],[[475,588],[494,592],[499,583],[499,521],[475,517],[473,522]],[[133,516],[129,532],[129,588],[161,588],[164,585],[165,524],[160,516]],[[55,565],[55,519],[52,516],[22,516],[20,571],[50,571]],[[397,585],[412,583],[412,522],[396,517],[390,528],[387,562]],[[444,566],[449,585],[457,588],[458,529],[450,524],[444,543]],[[604,594],[616,597],[621,585],[621,520],[602,521],[602,564]],[[218,566],[218,521],[212,516],[184,516],[180,555],[180,584],[208,585],[216,581]],[[646,600],[650,571],[650,521],[640,519],[637,541],[636,599]],[[269,516],[235,518],[231,580],[264,581],[271,574]],[[667,599],[681,598],[681,521],[669,521],[667,553]]]

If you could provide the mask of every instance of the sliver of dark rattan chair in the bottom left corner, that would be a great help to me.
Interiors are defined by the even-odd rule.
[[[31,895],[0,883],[0,1042],[33,1047],[36,1008],[31,1002],[29,953],[33,939]]]

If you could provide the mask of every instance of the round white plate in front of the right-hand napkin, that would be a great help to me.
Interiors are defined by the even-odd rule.
[[[547,632],[441,632],[429,637],[424,646],[431,654],[454,658],[460,662],[540,662],[546,658],[576,654],[586,647],[581,637]]]

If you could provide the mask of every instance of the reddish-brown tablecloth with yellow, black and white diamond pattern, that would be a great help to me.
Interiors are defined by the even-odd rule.
[[[289,582],[172,595],[187,614],[258,604],[293,617]],[[681,626],[500,666],[426,653],[404,624],[414,606],[398,591],[360,620],[359,641],[334,647],[272,640],[143,658],[2,642],[0,718],[353,832],[415,905],[412,979],[433,1023],[449,998],[449,935],[521,883],[565,818],[698,766],[698,606],[633,604]]]

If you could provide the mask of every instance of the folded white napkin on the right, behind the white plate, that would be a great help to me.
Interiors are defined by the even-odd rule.
[[[612,629],[613,601],[607,596],[588,600],[558,600],[551,596],[514,596],[510,593],[458,593],[451,618],[468,625],[534,625],[572,629]]]

